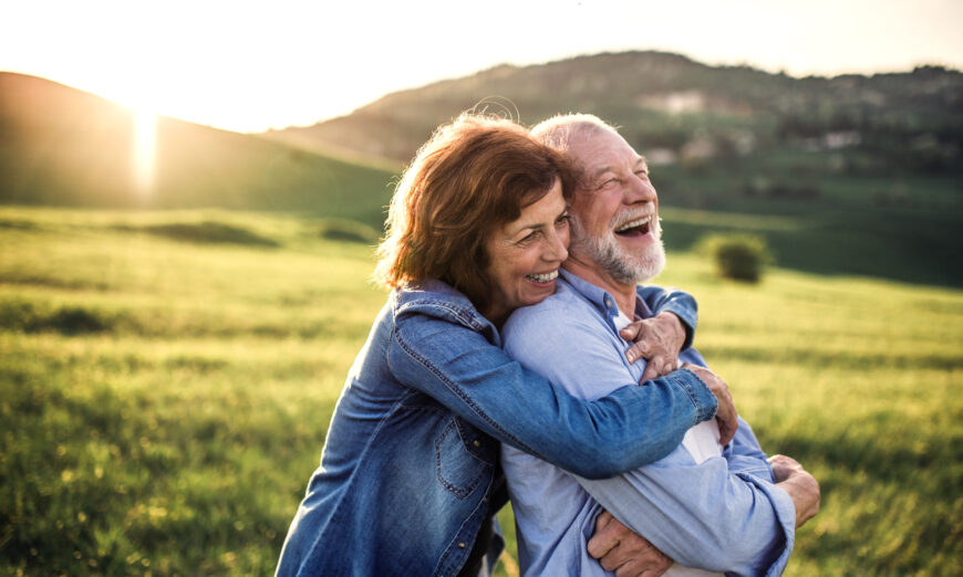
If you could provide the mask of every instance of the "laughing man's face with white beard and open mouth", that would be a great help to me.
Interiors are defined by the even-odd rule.
[[[645,159],[608,130],[578,137],[569,154],[583,169],[571,206],[572,256],[621,284],[656,276],[665,266],[665,250]]]

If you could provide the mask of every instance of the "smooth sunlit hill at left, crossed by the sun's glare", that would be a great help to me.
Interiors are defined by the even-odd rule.
[[[134,122],[133,111],[99,96],[0,73],[0,202],[384,219],[390,171],[166,117],[156,125],[156,180],[138,192]]]

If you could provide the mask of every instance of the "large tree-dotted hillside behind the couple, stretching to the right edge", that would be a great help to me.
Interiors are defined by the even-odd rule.
[[[620,126],[650,158],[661,206],[681,211],[663,211],[670,249],[748,230],[783,266],[963,285],[963,74],[938,66],[795,78],[598,54],[498,66],[265,136],[406,162],[478,103],[524,124],[587,112]]]

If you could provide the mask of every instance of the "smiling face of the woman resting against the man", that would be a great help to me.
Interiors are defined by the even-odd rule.
[[[559,266],[569,253],[568,204],[561,181],[521,211],[518,219],[496,229],[485,242],[493,294],[486,317],[501,325],[519,306],[541,302],[555,293]]]

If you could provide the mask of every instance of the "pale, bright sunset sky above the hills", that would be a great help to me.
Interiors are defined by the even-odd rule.
[[[0,71],[238,132],[509,63],[660,50],[794,76],[963,70],[961,0],[0,0]]]

